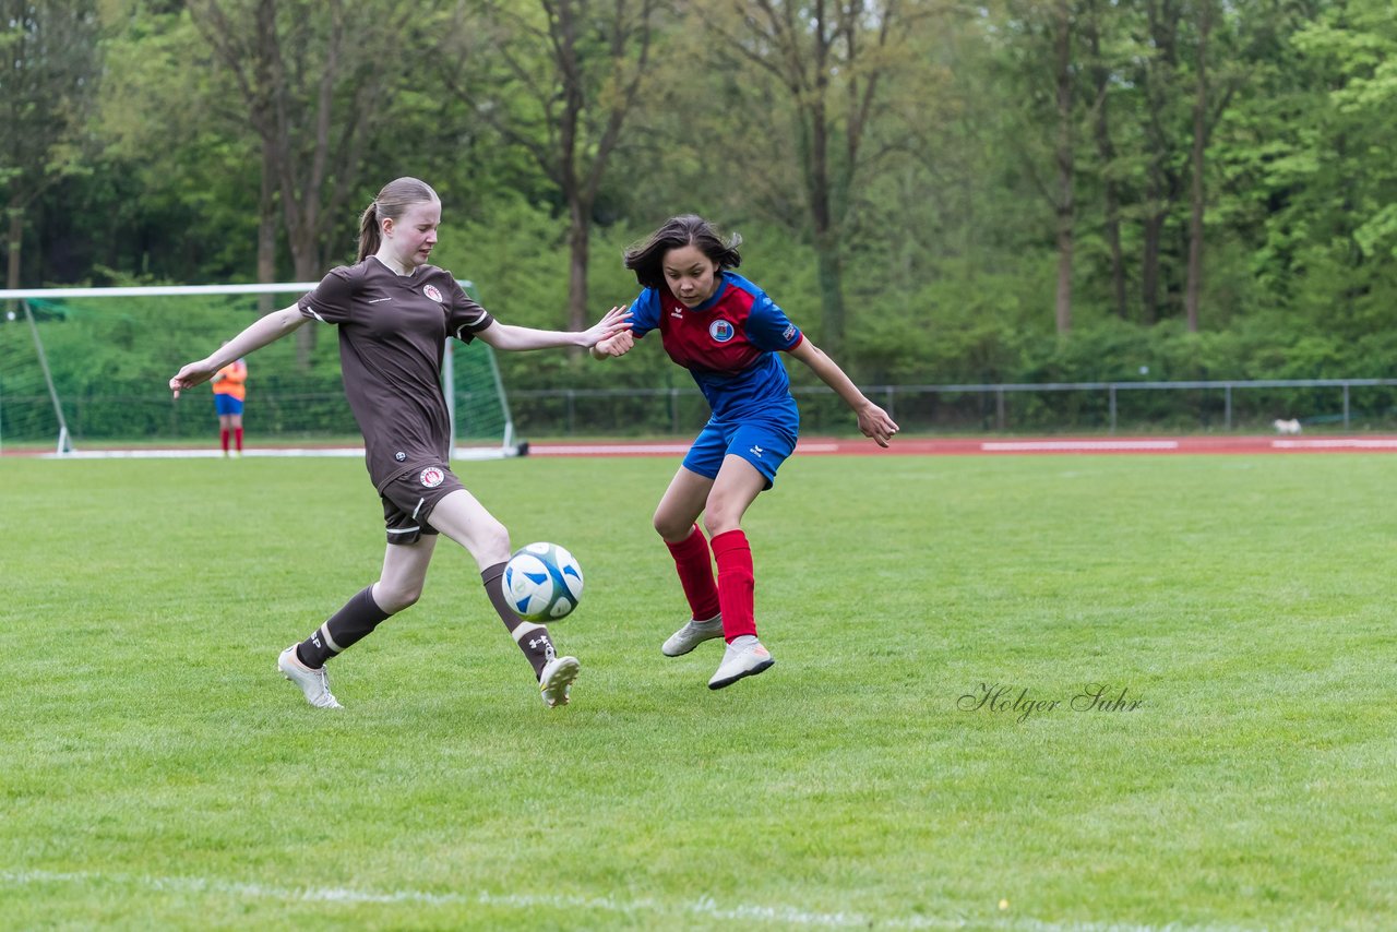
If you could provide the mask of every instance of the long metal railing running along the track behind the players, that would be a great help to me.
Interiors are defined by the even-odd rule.
[[[862,390],[905,432],[1234,432],[1271,430],[1273,419],[1298,419],[1306,429],[1397,430],[1397,379],[870,384]],[[854,430],[848,408],[826,386],[792,391],[806,436]],[[474,401],[472,393],[457,394],[467,408]],[[61,401],[75,439],[198,437],[208,430],[205,407],[182,409],[159,390]],[[710,414],[693,386],[515,388],[509,405],[521,437],[693,436]],[[0,437],[7,444],[47,442],[59,432],[53,411],[42,387],[4,394]],[[258,394],[250,418],[264,437],[356,432],[338,390],[277,386]]]

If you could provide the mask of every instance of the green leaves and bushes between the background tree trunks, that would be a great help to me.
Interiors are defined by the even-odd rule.
[[[1208,48],[1218,96],[1203,179],[1200,333],[1186,338],[1176,320],[1204,8],[1220,17]],[[277,10],[282,18],[328,15],[316,4]],[[56,182],[25,214],[22,284],[250,281],[261,143],[236,75],[215,66],[180,4],[99,11],[105,64],[85,127],[99,145],[82,173]],[[1377,337],[1397,324],[1390,4],[1168,4],[1155,20],[1139,4],[1083,3],[1076,11],[1066,124],[1045,94],[1052,22],[1041,4],[918,8],[898,21],[898,42],[863,63],[880,71],[879,105],[859,127],[868,161],[840,194],[848,317],[838,362],[865,383],[1130,377],[1140,366],[1151,377],[1390,374],[1391,355]],[[599,22],[610,13],[602,6],[588,15]],[[634,295],[619,260],[627,243],[696,211],[745,235],[740,271],[821,344],[826,302],[799,159],[803,124],[771,75],[715,48],[701,28],[714,15],[692,4],[659,21],[645,85],[591,217],[590,313]],[[335,207],[342,221],[324,245],[330,261],[351,259],[358,210],[383,180],[419,175],[444,201],[439,264],[475,279],[502,320],[563,326],[569,218],[557,179],[518,144],[527,138],[536,154],[557,141],[535,123],[543,98],[527,87],[549,74],[549,48],[531,32],[543,20],[528,4],[490,4],[489,15],[461,4],[402,27],[401,48],[422,49],[430,80],[408,75],[405,87],[393,85],[391,108],[374,110],[359,180]],[[328,21],[302,25],[319,35]],[[578,67],[601,87],[610,52],[597,39],[578,42]],[[481,57],[504,42],[518,74],[468,80],[504,61]],[[320,52],[307,49],[305,61]],[[440,82],[448,92],[433,89]],[[302,129],[305,143],[310,127]],[[1051,154],[1060,129],[1071,133],[1076,166],[1074,327],[1066,338],[1053,327]],[[847,158],[849,130],[833,124],[831,158]],[[326,190],[337,180],[326,179]],[[284,219],[285,205],[275,210]],[[1144,221],[1154,215],[1158,326],[1144,282]],[[278,256],[278,277],[291,277],[285,229]],[[122,366],[156,367],[141,359],[154,355],[142,341],[112,337],[110,352],[95,349],[94,358],[130,354]],[[521,391],[689,384],[644,344],[615,365],[576,354],[509,355],[500,365],[506,384]],[[802,367],[793,376],[809,384]]]

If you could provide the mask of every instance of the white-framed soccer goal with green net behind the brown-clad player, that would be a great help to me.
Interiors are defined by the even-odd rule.
[[[316,284],[0,289],[0,451],[217,456],[211,388],[173,400],[170,376]],[[455,458],[524,453],[490,347],[446,349]],[[334,328],[302,327],[247,367],[249,456],[362,456]]]

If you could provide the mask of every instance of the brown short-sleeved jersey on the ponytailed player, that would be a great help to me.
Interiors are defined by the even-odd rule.
[[[305,317],[339,327],[345,397],[363,433],[374,488],[450,463],[451,423],[441,391],[446,338],[469,342],[495,321],[451,272],[419,265],[412,275],[398,275],[370,256],[331,270],[298,306]]]

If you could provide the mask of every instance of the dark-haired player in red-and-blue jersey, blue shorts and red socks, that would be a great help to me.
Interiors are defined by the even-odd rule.
[[[712,408],[654,517],[693,611],[693,619],[661,651],[679,657],[722,636],[728,647],[710,689],[775,662],[757,640],[752,548],[740,525],[757,493],[775,482],[799,433],[800,416],[777,352],[810,366],[879,446],[886,447],[897,433],[887,412],[863,397],[766,292],[732,271],[742,263],[740,242],[736,235],[725,240],[708,221],[686,215],[627,249],[626,268],[643,288],[630,305],[631,328],[591,351],[597,359],[620,356],[658,330],[665,352],[690,372]],[[700,514],[707,538],[696,524]]]

